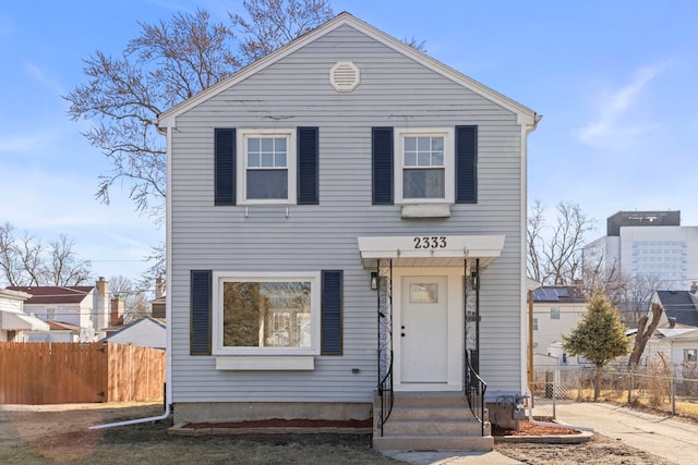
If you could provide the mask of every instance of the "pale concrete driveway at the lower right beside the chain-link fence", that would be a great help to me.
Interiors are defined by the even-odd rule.
[[[588,426],[595,432],[677,464],[698,464],[698,424],[646,414],[613,404],[564,402],[558,421]]]

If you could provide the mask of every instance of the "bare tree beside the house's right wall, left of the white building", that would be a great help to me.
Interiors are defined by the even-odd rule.
[[[544,209],[535,201],[527,224],[527,269],[546,285],[571,285],[582,277],[581,249],[593,230],[577,204],[559,203],[554,227],[545,225]]]

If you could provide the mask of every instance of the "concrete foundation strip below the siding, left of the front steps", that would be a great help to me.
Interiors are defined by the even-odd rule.
[[[173,404],[174,425],[250,421],[273,418],[365,420],[369,403],[328,402],[182,402]]]

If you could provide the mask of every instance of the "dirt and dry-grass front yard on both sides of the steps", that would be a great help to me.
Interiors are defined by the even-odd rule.
[[[2,464],[398,464],[371,449],[370,435],[177,437],[171,418],[88,430],[88,426],[158,416],[161,404],[0,406]],[[528,464],[670,464],[615,440],[583,444],[497,444]]]

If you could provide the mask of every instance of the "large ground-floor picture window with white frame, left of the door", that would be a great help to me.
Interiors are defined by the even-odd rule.
[[[317,274],[216,274],[215,282],[215,354],[320,353]]]

